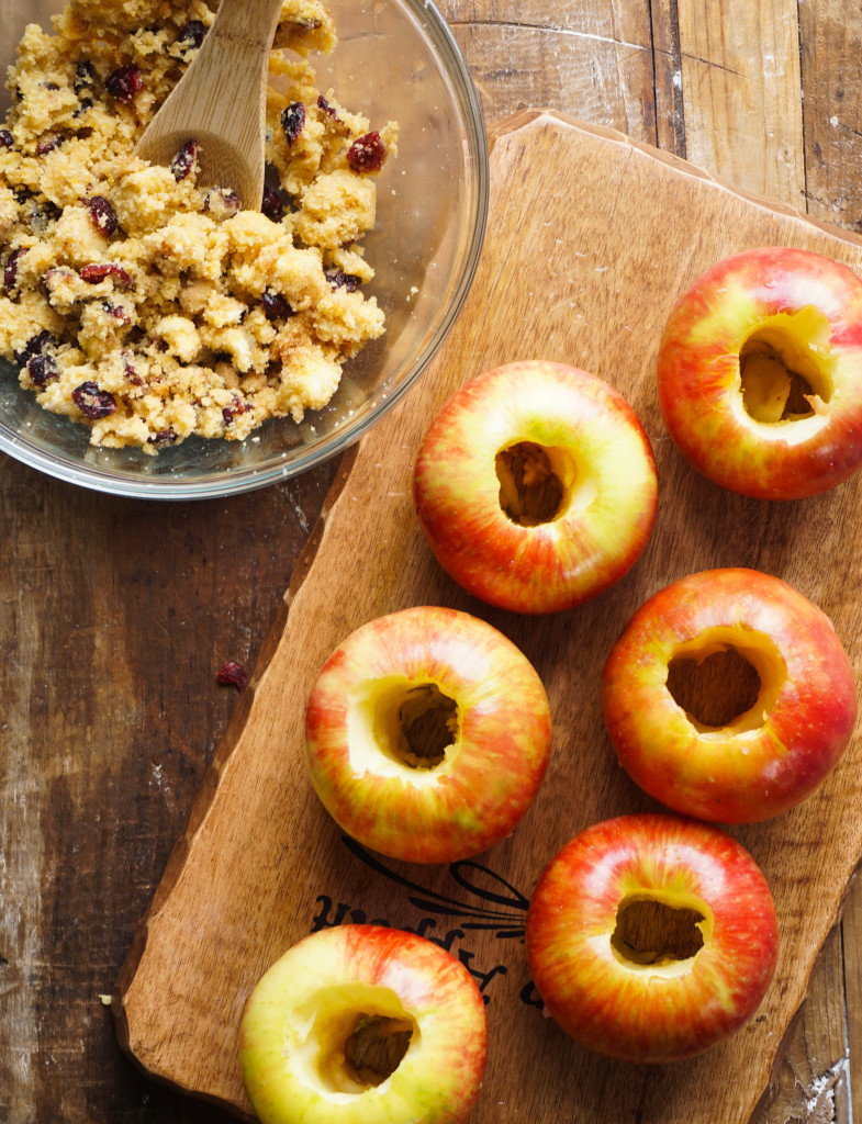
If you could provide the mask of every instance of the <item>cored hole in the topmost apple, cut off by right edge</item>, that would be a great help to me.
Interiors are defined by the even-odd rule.
[[[752,333],[739,351],[745,411],[755,422],[799,422],[832,397],[828,324],[817,309],[779,314]]]

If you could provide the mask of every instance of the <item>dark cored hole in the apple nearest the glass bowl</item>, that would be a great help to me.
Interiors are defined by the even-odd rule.
[[[500,482],[500,507],[521,527],[551,523],[563,509],[574,478],[571,457],[561,450],[519,441],[501,448],[494,459]]]

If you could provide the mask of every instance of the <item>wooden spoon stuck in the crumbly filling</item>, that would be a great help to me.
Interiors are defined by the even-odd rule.
[[[260,210],[266,132],[266,74],[282,0],[221,0],[189,69],[144,132],[137,155],[170,165],[197,145],[198,183],[235,191]]]

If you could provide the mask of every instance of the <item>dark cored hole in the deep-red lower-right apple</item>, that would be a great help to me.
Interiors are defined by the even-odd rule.
[[[704,948],[700,910],[650,897],[625,898],[617,907],[610,943],[621,960],[663,967],[690,960]]]

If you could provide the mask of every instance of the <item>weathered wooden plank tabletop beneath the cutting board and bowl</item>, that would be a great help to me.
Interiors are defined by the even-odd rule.
[[[862,9],[846,0],[444,0],[488,123],[550,107],[862,230]],[[517,11],[517,21],[512,12]],[[227,1122],[139,1075],[101,1001],[337,465],[223,502],[0,473],[0,1118]],[[827,564],[824,562],[824,564]],[[754,1124],[862,1113],[862,890]],[[716,1122],[722,1124],[722,1122]]]

